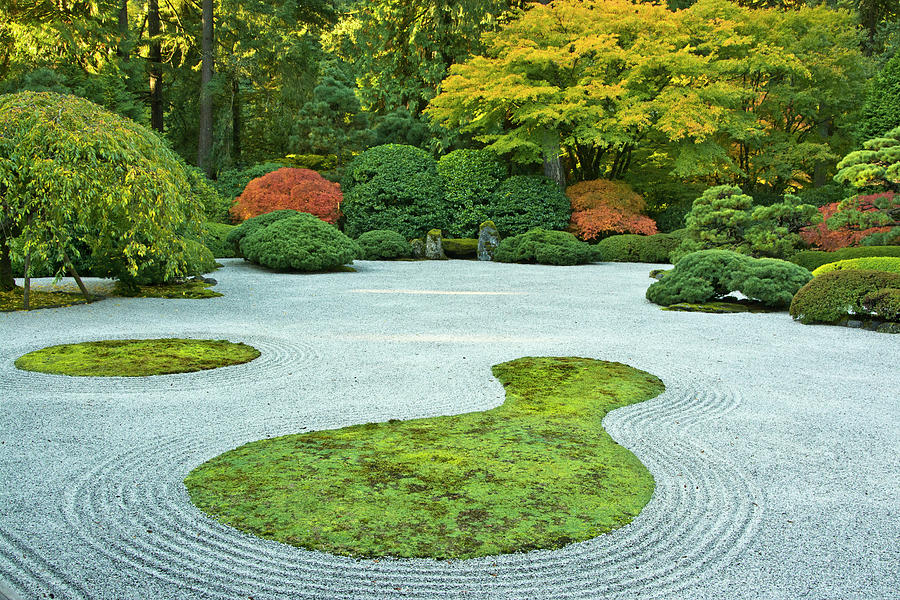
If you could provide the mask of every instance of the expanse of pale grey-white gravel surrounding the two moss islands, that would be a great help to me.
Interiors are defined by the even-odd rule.
[[[664,312],[644,300],[656,265],[223,262],[223,298],[0,314],[0,597],[900,598],[900,336]],[[438,293],[467,291],[499,293]],[[135,379],[13,366],[171,336],[263,355]],[[631,525],[557,551],[355,560],[247,536],[187,498],[192,468],[251,440],[496,406],[490,366],[533,355],[666,383],[605,421],[656,478]]]

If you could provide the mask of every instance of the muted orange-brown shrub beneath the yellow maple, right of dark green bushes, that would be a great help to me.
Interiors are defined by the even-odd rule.
[[[656,233],[653,219],[641,214],[644,199],[625,182],[582,181],[569,187],[566,196],[572,203],[569,229],[583,240],[603,233]]]

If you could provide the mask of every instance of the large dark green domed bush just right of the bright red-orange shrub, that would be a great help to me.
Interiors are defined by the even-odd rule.
[[[347,167],[341,188],[344,231],[352,237],[391,229],[409,239],[453,222],[437,162],[413,146],[369,148]]]

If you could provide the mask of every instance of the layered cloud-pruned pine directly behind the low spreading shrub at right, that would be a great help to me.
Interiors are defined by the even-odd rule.
[[[694,201],[685,219],[685,238],[672,259],[716,248],[786,258],[804,245],[799,232],[817,218],[815,207],[801,204],[796,196],[754,207],[753,198],[738,187],[709,188]]]

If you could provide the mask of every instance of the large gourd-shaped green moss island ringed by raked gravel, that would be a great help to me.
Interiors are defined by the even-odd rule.
[[[601,420],[662,382],[585,358],[522,358],[494,375],[506,388],[497,408],[260,440],[185,484],[237,529],[358,557],[558,548],[629,523],[653,477]]]

